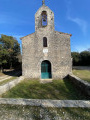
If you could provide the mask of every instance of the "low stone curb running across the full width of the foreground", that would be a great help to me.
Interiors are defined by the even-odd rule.
[[[90,101],[83,100],[43,100],[43,99],[9,99],[0,98],[0,104],[29,105],[37,107],[90,107]]]

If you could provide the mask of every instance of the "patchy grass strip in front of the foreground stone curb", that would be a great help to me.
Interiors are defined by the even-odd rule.
[[[47,118],[48,117],[48,118]],[[90,108],[43,108],[19,105],[0,105],[0,120],[89,120]]]

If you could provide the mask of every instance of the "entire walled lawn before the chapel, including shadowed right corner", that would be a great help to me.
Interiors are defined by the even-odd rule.
[[[89,99],[78,91],[68,80],[53,80],[52,83],[41,84],[38,80],[24,80],[16,87],[3,94],[4,98],[27,99]]]

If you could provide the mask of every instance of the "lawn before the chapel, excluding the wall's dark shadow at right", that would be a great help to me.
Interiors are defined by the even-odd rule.
[[[55,80],[46,84],[40,84],[39,81],[35,80],[24,80],[2,97],[63,100],[70,99],[69,94],[63,80]]]

